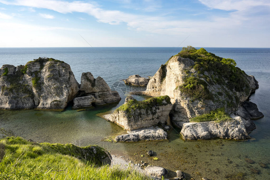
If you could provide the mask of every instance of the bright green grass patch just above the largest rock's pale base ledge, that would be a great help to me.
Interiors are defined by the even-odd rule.
[[[224,108],[216,109],[214,111],[211,111],[208,114],[202,114],[197,117],[191,118],[190,122],[206,122],[206,121],[227,121],[232,119],[228,114],[225,113]]]

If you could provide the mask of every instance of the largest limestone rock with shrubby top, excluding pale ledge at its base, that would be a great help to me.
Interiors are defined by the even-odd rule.
[[[149,96],[168,95],[171,98],[173,109],[170,118],[175,125],[218,108],[224,108],[228,114],[234,113],[239,104],[259,87],[253,76],[231,64],[224,64],[227,62],[223,63],[222,58],[203,48],[193,52],[201,59],[209,57],[216,60],[204,67],[200,59],[183,58],[181,53],[172,56],[160,66],[143,92]]]

